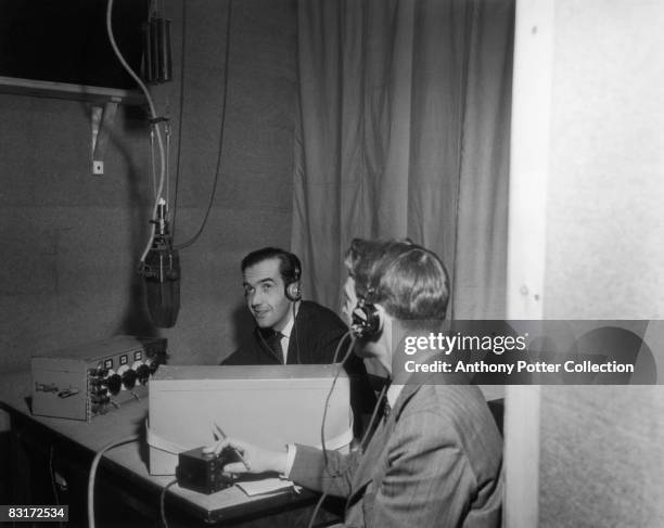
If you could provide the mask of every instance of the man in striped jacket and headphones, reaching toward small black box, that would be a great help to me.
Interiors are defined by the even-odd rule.
[[[346,265],[344,311],[355,352],[380,363],[393,381],[371,438],[350,454],[299,445],[272,452],[234,439],[206,450],[231,446],[243,455],[247,465],[228,464],[227,472],[273,471],[345,498],[347,527],[500,526],[502,440],[480,389],[458,374],[404,378],[398,372],[399,343],[445,317],[443,263],[407,242],[355,240]]]

